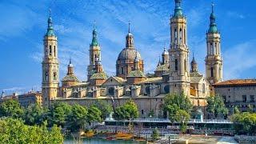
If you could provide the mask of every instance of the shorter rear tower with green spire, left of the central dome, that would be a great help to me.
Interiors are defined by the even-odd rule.
[[[97,39],[97,30],[94,24],[94,30],[93,30],[93,39],[90,43],[90,64],[87,67],[87,80],[90,80],[90,77],[92,76],[92,74],[94,74],[95,70],[95,62],[96,62],[96,58],[99,58],[99,60],[101,60],[101,47],[98,44],[98,39]]]

